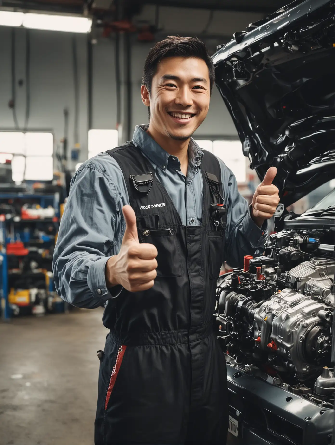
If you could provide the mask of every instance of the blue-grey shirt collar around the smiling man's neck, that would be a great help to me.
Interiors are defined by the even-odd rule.
[[[161,170],[166,172],[166,168],[169,164],[169,158],[176,158],[167,151],[161,148],[156,141],[149,136],[146,130],[149,128],[149,124],[137,125],[133,134],[133,143],[141,149],[141,151],[150,159],[151,162],[156,164]],[[191,167],[198,167],[201,165],[202,150],[198,144],[191,138],[189,144],[189,156]],[[170,164],[169,164],[170,165]]]

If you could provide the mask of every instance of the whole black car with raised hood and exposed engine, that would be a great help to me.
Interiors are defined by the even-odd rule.
[[[247,445],[331,444],[335,191],[289,210],[335,178],[335,2],[295,1],[213,60],[243,153],[259,178],[277,167],[281,198],[264,255],[218,280],[230,433]]]

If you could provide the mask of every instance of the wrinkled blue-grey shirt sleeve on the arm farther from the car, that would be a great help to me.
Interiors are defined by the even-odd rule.
[[[53,274],[58,295],[74,306],[102,306],[121,291],[109,290],[105,280],[105,265],[122,233],[118,196],[111,178],[94,165],[81,166],[71,181]]]

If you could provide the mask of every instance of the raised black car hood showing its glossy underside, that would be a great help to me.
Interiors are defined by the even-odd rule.
[[[262,179],[289,206],[335,178],[335,3],[295,1],[218,47],[216,84]]]

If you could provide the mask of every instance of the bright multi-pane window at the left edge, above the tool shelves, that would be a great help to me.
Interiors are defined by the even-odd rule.
[[[0,158],[8,159],[6,153],[12,158],[13,181],[52,180],[52,133],[0,131]]]

